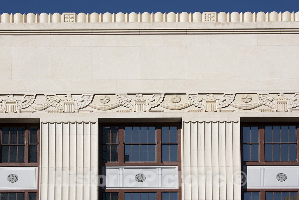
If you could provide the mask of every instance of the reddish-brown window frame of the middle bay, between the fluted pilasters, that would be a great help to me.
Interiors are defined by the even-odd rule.
[[[103,127],[118,126],[118,162],[103,162]],[[155,162],[124,162],[124,127],[125,126],[156,126],[156,161]],[[178,161],[162,162],[162,126],[177,126],[178,127]],[[139,143],[134,143],[139,144]],[[168,144],[168,143],[166,143]],[[174,144],[174,143],[171,143]],[[181,123],[103,123],[99,125],[99,174],[102,174],[103,166],[178,166],[179,180],[181,180]],[[181,185],[178,189],[103,189],[99,187],[98,199],[102,198],[102,193],[118,192],[118,200],[124,200],[125,192],[155,192],[156,199],[162,199],[162,192],[177,192],[178,200],[181,200]]]

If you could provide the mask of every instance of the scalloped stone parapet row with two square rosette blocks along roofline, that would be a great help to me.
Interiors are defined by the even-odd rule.
[[[74,22],[294,22],[299,12],[195,12],[195,13],[28,13],[0,15],[1,23],[74,23]]]

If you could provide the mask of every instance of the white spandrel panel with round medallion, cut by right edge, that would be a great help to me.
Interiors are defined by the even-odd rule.
[[[248,189],[299,188],[298,171],[299,166],[247,166],[245,187]]]

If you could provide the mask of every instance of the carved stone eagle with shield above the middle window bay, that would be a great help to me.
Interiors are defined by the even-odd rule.
[[[148,99],[144,98],[142,94],[136,94],[135,99],[129,97],[128,94],[117,94],[116,98],[122,106],[129,108],[129,110],[118,110],[117,112],[164,112],[164,110],[151,110],[164,100],[162,93],[153,94]]]

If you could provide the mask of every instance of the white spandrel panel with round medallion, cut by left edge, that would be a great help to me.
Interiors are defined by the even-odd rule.
[[[0,190],[37,190],[37,167],[0,167]]]

